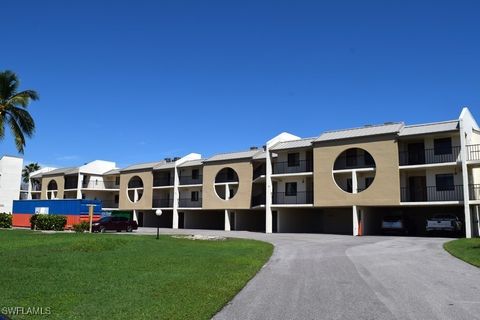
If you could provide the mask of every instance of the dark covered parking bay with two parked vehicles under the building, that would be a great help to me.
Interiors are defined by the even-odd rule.
[[[385,235],[382,221],[389,217],[402,217],[406,223],[406,236],[459,236],[448,232],[427,233],[427,218],[437,214],[456,215],[465,226],[463,205],[423,205],[423,206],[393,206],[393,207],[358,207],[359,235]],[[463,228],[461,236],[465,236]]]

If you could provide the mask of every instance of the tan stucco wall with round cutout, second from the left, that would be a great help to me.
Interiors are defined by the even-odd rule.
[[[128,182],[134,176],[139,176],[143,181],[143,195],[137,203],[133,203],[128,198],[127,187]],[[119,209],[123,210],[145,210],[152,208],[153,194],[153,174],[152,171],[132,171],[120,174],[120,200]]]

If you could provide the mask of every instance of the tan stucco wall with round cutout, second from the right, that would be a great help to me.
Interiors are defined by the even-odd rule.
[[[237,172],[238,191],[230,200],[223,200],[215,192],[215,176],[223,168]],[[205,164],[203,167],[202,205],[204,209],[250,209],[253,167],[250,161]]]

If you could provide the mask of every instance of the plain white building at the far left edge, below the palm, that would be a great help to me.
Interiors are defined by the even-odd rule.
[[[0,212],[11,213],[13,200],[20,196],[23,159],[13,156],[0,158]]]

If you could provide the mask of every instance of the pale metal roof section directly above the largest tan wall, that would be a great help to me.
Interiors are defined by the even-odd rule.
[[[327,131],[315,139],[315,142],[398,133],[403,126],[404,124],[402,122],[396,122],[345,130]]]

